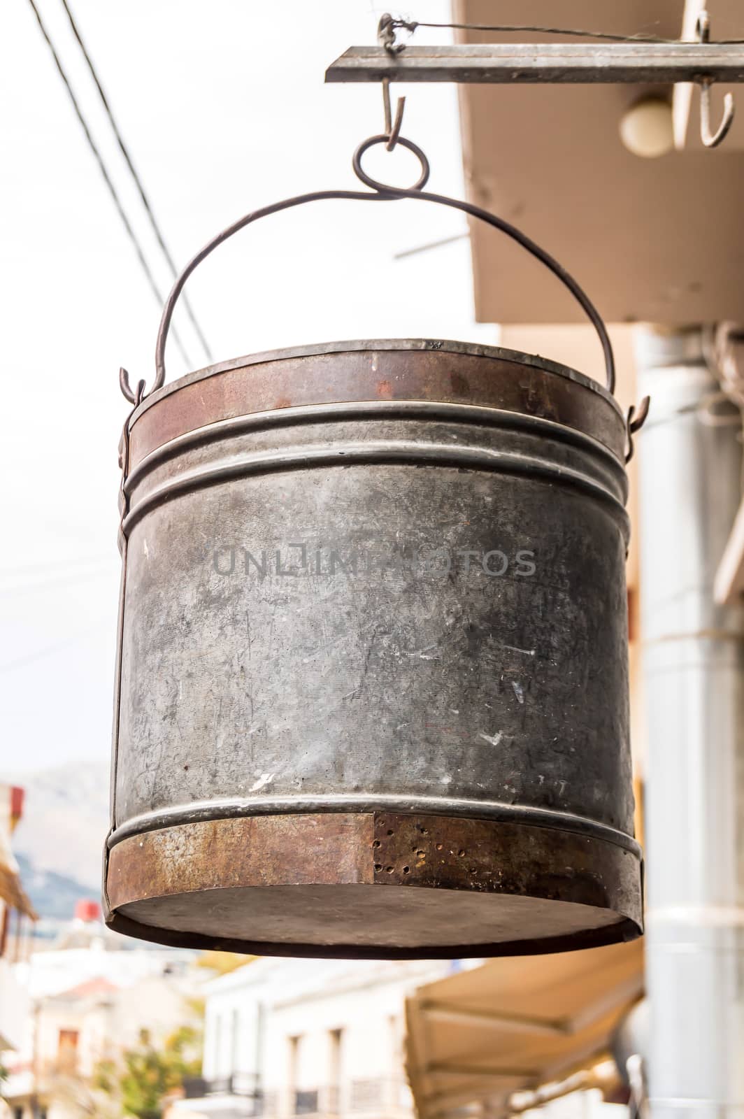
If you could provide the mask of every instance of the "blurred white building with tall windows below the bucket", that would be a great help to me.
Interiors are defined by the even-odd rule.
[[[405,998],[452,968],[265,958],[213,980],[204,1076],[171,1119],[411,1116]]]

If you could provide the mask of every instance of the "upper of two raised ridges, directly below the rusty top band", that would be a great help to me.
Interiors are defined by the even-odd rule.
[[[295,407],[273,408],[253,412],[230,420],[218,420],[204,427],[197,427],[185,435],[162,443],[147,454],[130,471],[125,491],[132,493],[150,471],[186,451],[197,446],[243,435],[246,432],[265,431],[269,427],[290,427],[302,423],[339,423],[343,420],[441,420],[445,423],[473,424],[478,426],[508,427],[526,431],[543,439],[554,440],[576,446],[587,454],[597,455],[618,474],[619,482],[627,491],[628,479],[620,460],[599,440],[575,427],[533,416],[525,412],[492,408],[474,404],[452,404],[445,401],[345,401],[339,404],[305,404]]]

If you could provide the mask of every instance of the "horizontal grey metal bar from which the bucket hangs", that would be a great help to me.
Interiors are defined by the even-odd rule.
[[[715,43],[512,44],[349,47],[327,82],[744,82],[744,46]]]

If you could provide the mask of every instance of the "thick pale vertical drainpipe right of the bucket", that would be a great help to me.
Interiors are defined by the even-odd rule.
[[[639,331],[651,1116],[744,1116],[743,611],[713,581],[741,497],[741,419],[700,331]]]

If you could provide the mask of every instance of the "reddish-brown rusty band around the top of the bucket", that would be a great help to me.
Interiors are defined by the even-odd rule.
[[[153,404],[141,406],[132,421],[131,466],[179,435],[223,420],[370,401],[520,412],[591,435],[624,460],[625,417],[600,385],[568,368],[543,368],[529,355],[482,350],[435,340],[385,339],[223,363],[175,382],[154,395]]]

